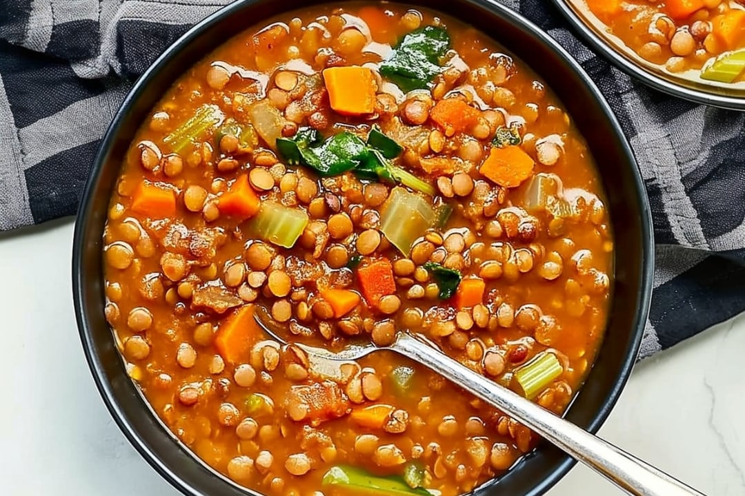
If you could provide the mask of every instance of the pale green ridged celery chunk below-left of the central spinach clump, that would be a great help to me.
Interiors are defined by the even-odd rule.
[[[250,228],[264,241],[292,248],[306,225],[308,214],[304,210],[276,202],[263,202],[259,213],[251,219]]]

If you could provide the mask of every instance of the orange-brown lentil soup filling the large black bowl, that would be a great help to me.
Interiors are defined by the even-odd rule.
[[[152,109],[110,204],[105,314],[165,425],[236,483],[457,495],[536,436],[399,355],[317,367],[254,315],[329,348],[419,333],[560,414],[606,325],[609,214],[530,68],[429,10],[344,5],[230,39]]]

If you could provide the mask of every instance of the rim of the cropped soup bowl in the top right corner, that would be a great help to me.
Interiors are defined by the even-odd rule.
[[[633,62],[625,56],[621,50],[615,48],[609,40],[603,39],[588,23],[584,22],[580,15],[571,6],[569,0],[551,0],[554,5],[561,11],[565,19],[569,21],[572,28],[576,30],[580,37],[589,43],[590,48],[598,52],[598,55],[609,59],[617,68],[624,71],[635,80],[644,83],[650,88],[662,91],[673,97],[682,98],[693,103],[714,106],[720,109],[745,111],[745,95],[738,97],[730,94],[724,94],[726,88],[718,88],[706,83],[697,83],[701,89],[693,88],[682,83],[674,83],[671,77],[668,80],[665,77],[655,74],[650,68]],[[706,91],[703,88],[711,88]],[[719,90],[719,91],[717,91]]]

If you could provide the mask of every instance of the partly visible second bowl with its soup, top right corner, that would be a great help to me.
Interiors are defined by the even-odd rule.
[[[678,97],[745,108],[745,5],[738,0],[557,0],[606,57]]]

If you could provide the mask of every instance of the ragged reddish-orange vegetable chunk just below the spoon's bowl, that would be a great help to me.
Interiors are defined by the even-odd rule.
[[[323,422],[349,413],[349,399],[344,396],[339,385],[332,381],[291,387],[288,405],[302,407],[291,408],[289,412],[290,418],[295,422]]]

